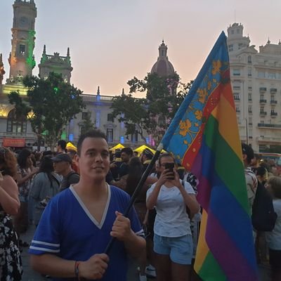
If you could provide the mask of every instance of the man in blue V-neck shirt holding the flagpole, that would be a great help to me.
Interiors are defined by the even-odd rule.
[[[110,169],[106,136],[90,131],[79,138],[79,183],[48,203],[30,246],[34,270],[53,280],[126,280],[127,254],[145,249],[143,230],[132,209],[122,216],[129,195],[107,185]],[[103,254],[116,237],[109,256]]]

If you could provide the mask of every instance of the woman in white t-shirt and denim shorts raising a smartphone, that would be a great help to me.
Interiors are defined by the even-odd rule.
[[[186,207],[192,216],[200,205],[192,186],[180,180],[172,155],[160,155],[159,171],[159,180],[146,196],[148,209],[155,207],[157,211],[154,225],[157,280],[188,281],[193,247]]]

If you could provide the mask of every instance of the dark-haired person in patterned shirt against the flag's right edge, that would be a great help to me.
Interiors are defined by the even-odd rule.
[[[254,198],[256,196],[256,188],[258,187],[258,180],[256,175],[251,170],[251,159],[254,158],[254,150],[251,146],[246,143],[242,143],[242,157],[244,163],[244,174],[247,183],[247,195],[249,200],[249,207],[251,211],[251,207],[254,204]]]

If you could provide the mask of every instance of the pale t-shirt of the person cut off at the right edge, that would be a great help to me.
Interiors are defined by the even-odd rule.
[[[266,242],[270,249],[281,250],[281,199],[273,199],[273,208],[277,219],[273,230],[266,233]]]

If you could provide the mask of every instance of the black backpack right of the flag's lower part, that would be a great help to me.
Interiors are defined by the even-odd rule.
[[[255,230],[272,231],[277,214],[273,209],[273,198],[262,183],[258,181],[256,197],[252,206],[251,223]]]

